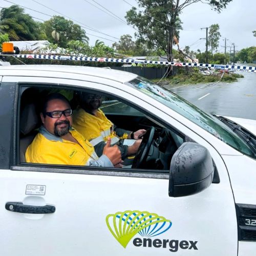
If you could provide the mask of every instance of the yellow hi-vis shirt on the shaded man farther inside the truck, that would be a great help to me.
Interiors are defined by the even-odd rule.
[[[109,137],[111,144],[117,143],[120,139],[127,139],[127,133],[119,138],[113,131],[113,125],[101,110],[97,111],[96,116],[83,109],[75,110],[73,113],[73,127],[93,146],[101,141],[107,141]]]

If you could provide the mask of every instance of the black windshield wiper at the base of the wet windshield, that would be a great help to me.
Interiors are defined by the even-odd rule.
[[[256,136],[254,134],[250,133],[248,130],[246,130],[244,127],[242,127],[238,123],[235,123],[223,116],[216,116],[216,115],[213,115],[213,116],[218,118],[224,124],[226,124],[234,133],[236,133],[240,138],[242,138],[248,144],[248,146],[252,149],[254,153],[256,153]]]

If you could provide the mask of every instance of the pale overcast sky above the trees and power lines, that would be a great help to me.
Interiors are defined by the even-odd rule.
[[[0,7],[9,7],[13,4],[27,7],[38,12],[25,8],[26,13],[29,13],[34,18],[43,20],[48,20],[53,15],[60,15],[57,13],[59,12],[66,18],[68,16],[80,26],[89,26],[90,29],[103,33],[85,28],[90,38],[90,45],[94,45],[95,40],[100,39],[106,45],[112,46],[113,42],[118,41],[118,38],[123,34],[134,36],[135,30],[131,26],[122,23],[118,18],[112,17],[111,15],[113,14],[106,14],[105,12],[107,11],[105,9],[110,10],[125,21],[124,16],[131,9],[131,5],[138,7],[136,0],[126,0],[130,5],[123,0],[10,0],[10,2],[0,0]],[[220,25],[220,52],[224,52],[225,43],[223,39],[225,38],[228,39],[227,46],[231,46],[234,43],[236,50],[255,46],[256,37],[252,34],[252,31],[256,30],[255,14],[256,0],[233,0],[227,9],[224,9],[221,13],[211,10],[210,6],[206,4],[196,3],[190,5],[180,15],[183,22],[183,30],[180,32],[180,48],[183,49],[185,46],[190,46],[191,50],[200,49],[205,51],[205,39],[200,38],[206,37],[206,31],[205,29],[201,30],[201,28],[209,27],[212,24]],[[227,51],[229,50],[230,47],[227,48]]]

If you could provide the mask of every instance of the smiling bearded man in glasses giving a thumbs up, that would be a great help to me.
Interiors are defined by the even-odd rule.
[[[40,113],[42,125],[28,146],[26,162],[113,167],[121,162],[117,146],[110,140],[98,158],[93,145],[72,128],[72,109],[67,98],[53,93],[47,96]]]

